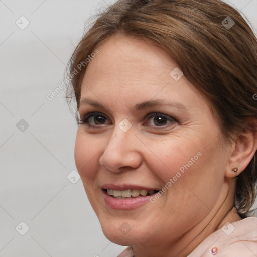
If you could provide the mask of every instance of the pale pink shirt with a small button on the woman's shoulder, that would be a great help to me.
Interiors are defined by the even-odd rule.
[[[131,247],[118,257],[133,257]],[[188,257],[256,257],[257,218],[248,217],[240,221],[227,222],[200,243]]]

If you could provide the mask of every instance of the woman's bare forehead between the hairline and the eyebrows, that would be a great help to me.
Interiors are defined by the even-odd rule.
[[[83,78],[81,98],[116,104],[163,99],[192,105],[199,92],[182,76],[170,73],[177,63],[160,47],[137,38],[113,36],[97,47]],[[198,101],[198,103],[200,103]],[[191,106],[192,107],[192,106]]]

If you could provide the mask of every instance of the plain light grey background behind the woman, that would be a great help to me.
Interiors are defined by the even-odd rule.
[[[73,184],[76,179],[67,178],[76,170],[77,125],[64,91],[46,98],[62,82],[86,20],[110,3],[0,1],[2,257],[107,257],[125,248],[104,237],[81,180]],[[256,33],[257,0],[230,3]],[[30,22],[24,30],[16,25],[21,16]],[[29,226],[25,235],[20,234],[26,232],[22,221]]]

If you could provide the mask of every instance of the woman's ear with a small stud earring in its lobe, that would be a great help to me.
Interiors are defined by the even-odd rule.
[[[232,147],[228,166],[225,171],[225,176],[228,178],[238,176],[250,163],[257,150],[257,131],[254,129],[243,129],[237,135]],[[233,168],[237,168],[238,171],[234,172],[232,170]]]

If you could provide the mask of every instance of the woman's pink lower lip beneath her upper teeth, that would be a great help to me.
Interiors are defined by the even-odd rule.
[[[139,196],[136,198],[129,198],[129,199],[116,199],[110,195],[107,194],[104,190],[103,192],[103,198],[105,203],[109,208],[112,209],[119,209],[119,210],[129,210],[134,209],[139,206],[142,206],[143,204],[150,201],[150,198],[154,195],[148,195],[148,196]]]

